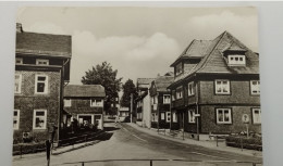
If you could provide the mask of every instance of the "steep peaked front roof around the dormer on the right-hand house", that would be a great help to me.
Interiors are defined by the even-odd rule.
[[[229,66],[223,59],[227,49],[245,51],[245,66]],[[192,76],[193,74],[259,74],[258,54],[248,49],[230,33],[224,31],[207,46],[205,56],[190,71],[185,72],[174,79],[174,84]],[[174,85],[173,84],[173,85]]]

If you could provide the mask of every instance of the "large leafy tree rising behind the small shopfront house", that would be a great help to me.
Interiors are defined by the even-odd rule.
[[[122,78],[116,78],[116,69],[112,69],[110,63],[102,62],[101,65],[93,66],[93,69],[85,72],[82,77],[84,85],[101,85],[106,90],[104,110],[107,114],[115,114],[112,105],[116,104],[118,92],[121,90]]]

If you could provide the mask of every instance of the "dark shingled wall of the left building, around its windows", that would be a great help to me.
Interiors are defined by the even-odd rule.
[[[14,139],[22,140],[23,132],[30,132],[38,140],[49,139],[52,126],[58,126],[60,110],[60,72],[36,72],[15,71],[22,75],[21,94],[14,97],[14,108],[20,110],[19,129],[14,130]],[[44,74],[48,76],[48,93],[35,94],[35,75]],[[47,128],[33,129],[34,110],[47,110]],[[57,140],[58,130],[54,139]]]

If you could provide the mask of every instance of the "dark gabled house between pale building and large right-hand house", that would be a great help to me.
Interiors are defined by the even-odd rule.
[[[167,89],[174,80],[171,75],[158,76],[150,86],[149,94],[151,99],[151,127],[170,128],[171,122],[171,93]]]

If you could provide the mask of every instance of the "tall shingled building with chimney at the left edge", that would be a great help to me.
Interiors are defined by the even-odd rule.
[[[62,92],[70,80],[71,36],[24,31],[16,24],[14,141],[59,140]]]

